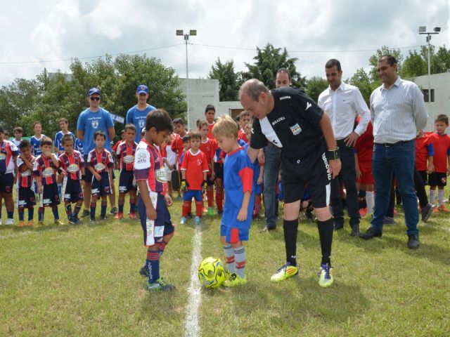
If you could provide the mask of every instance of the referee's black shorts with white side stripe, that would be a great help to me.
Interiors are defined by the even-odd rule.
[[[330,204],[331,173],[324,150],[322,148],[322,151],[310,154],[304,159],[288,158],[281,154],[281,181],[285,204],[301,200],[306,184],[309,184],[315,209]]]

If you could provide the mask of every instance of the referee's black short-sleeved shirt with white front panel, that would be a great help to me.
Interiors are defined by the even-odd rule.
[[[278,88],[271,94],[274,109],[263,119],[253,118],[250,147],[260,149],[270,142],[281,147],[283,157],[293,159],[304,159],[323,149],[323,111],[319,105],[298,88]]]

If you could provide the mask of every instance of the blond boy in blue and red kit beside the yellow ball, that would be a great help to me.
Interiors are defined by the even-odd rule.
[[[254,194],[253,170],[247,153],[238,143],[238,126],[228,115],[219,118],[212,129],[219,147],[227,153],[224,161],[225,207],[220,225],[220,239],[226,265],[231,274],[224,286],[238,286],[245,277],[245,248],[252,222]]]

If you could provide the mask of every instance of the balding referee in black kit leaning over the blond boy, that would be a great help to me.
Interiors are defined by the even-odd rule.
[[[244,109],[255,117],[248,148],[250,159],[255,161],[258,149],[268,143],[281,148],[287,261],[272,275],[271,281],[281,282],[298,274],[298,214],[304,187],[309,184],[322,251],[319,285],[330,286],[333,284],[330,180],[338,176],[341,166],[330,119],[304,91],[290,87],[269,91],[257,79],[250,79],[240,87],[239,99]]]

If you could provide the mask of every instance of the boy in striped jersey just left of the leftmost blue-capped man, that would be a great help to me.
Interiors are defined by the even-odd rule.
[[[78,213],[82,209],[83,192],[80,178],[84,178],[84,159],[82,154],[74,150],[74,138],[66,133],[61,139],[64,151],[59,156],[59,165],[63,169],[62,195],[65,213],[68,215],[69,223],[79,223]],[[72,212],[72,204],[75,209]]]

